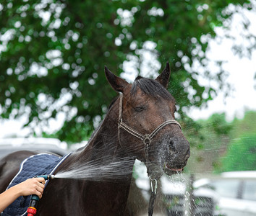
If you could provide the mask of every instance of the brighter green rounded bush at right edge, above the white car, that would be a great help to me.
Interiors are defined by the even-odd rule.
[[[233,140],[222,159],[221,171],[256,170],[256,135],[244,134]]]

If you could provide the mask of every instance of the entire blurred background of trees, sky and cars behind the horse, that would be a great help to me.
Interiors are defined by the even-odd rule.
[[[192,155],[161,179],[156,212],[256,215],[256,1],[2,0],[0,17],[1,156],[85,145],[116,96],[103,67],[132,82],[168,61]],[[139,161],[134,183],[142,215]]]

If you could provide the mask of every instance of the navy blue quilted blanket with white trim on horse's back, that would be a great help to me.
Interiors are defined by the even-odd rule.
[[[61,164],[64,159],[69,156],[66,155],[63,158],[54,156],[48,153],[41,153],[35,156],[30,156],[26,158],[20,164],[20,171],[14,176],[8,188],[19,184],[26,179],[33,178],[34,176],[39,175],[48,175],[54,174],[56,168]],[[46,181],[45,186],[48,181]],[[30,197],[19,197],[12,204],[7,207],[4,212],[1,214],[2,216],[18,216],[18,215],[27,215],[27,207],[30,204]]]

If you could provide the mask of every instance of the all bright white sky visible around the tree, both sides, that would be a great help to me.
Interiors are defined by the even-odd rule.
[[[243,11],[243,14],[246,19],[251,21],[249,32],[256,37],[256,13]],[[208,58],[225,61],[223,68],[229,72],[226,81],[231,84],[234,91],[226,98],[223,96],[222,92],[218,92],[218,96],[216,96],[213,101],[208,102],[207,108],[191,109],[187,114],[194,120],[207,119],[213,113],[225,112],[226,120],[231,121],[234,117],[242,118],[244,111],[247,109],[256,110],[256,51],[252,52],[251,58],[247,58],[245,55],[234,55],[234,52],[231,50],[234,41],[236,45],[247,46],[249,44],[247,40],[244,40],[244,36],[242,36],[242,19],[244,19],[242,16],[235,15],[231,22],[231,35],[235,40],[228,38],[219,40],[219,38],[223,36],[224,30],[222,28],[216,28],[217,37],[215,40],[210,41],[207,52]],[[255,20],[255,22],[253,22],[253,20]],[[142,76],[146,76],[146,74],[142,74]],[[199,82],[203,86],[208,85],[203,78],[201,78]],[[179,103],[179,99],[177,99],[177,102]],[[25,120],[26,117],[21,117],[20,120],[1,121],[0,138],[15,134],[17,136],[27,135],[29,130],[22,129],[22,124]],[[59,125],[56,124],[56,122],[51,124],[53,130],[58,127]]]

